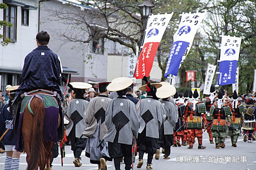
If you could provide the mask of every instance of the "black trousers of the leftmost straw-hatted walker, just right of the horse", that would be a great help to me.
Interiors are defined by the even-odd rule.
[[[80,158],[82,151],[86,148],[87,138],[76,138],[76,127],[73,126],[70,134],[71,150],[74,152],[75,158]]]

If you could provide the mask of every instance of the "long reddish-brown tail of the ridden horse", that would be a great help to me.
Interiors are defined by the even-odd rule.
[[[42,164],[46,164],[46,149],[44,147],[43,127],[44,127],[44,104],[41,99],[34,98],[31,101],[31,107],[34,109],[32,139],[31,139],[31,156],[27,170],[37,170]]]

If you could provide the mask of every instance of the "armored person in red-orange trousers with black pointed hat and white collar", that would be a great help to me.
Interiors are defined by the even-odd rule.
[[[194,91],[193,101],[186,105],[183,121],[186,121],[186,128],[190,133],[189,147],[192,149],[194,145],[194,139],[197,137],[198,149],[205,149],[206,146],[202,146],[202,119],[206,124],[205,105],[198,101],[199,95],[197,90]],[[204,125],[206,126],[206,125]]]

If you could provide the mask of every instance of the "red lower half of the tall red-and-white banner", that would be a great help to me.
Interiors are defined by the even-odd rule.
[[[159,44],[160,42],[148,42],[144,44],[136,63],[136,70],[134,75],[136,79],[142,79],[144,75],[146,77],[150,75]]]

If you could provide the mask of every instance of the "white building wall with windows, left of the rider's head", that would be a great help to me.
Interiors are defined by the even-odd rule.
[[[18,1],[18,0],[17,0]],[[0,0],[2,3],[3,1]],[[36,6],[36,1],[18,1],[26,5]],[[0,10],[0,20],[4,19],[4,10]],[[0,46],[0,68],[22,70],[24,58],[37,47],[36,34],[38,29],[38,10],[29,10],[28,26],[21,25],[21,7],[17,7],[17,42],[9,43],[8,46]],[[3,34],[3,30],[0,30]]]

